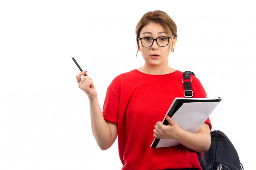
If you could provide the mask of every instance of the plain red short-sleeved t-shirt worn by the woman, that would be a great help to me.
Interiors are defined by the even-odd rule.
[[[200,81],[192,77],[193,97],[206,97]],[[133,70],[123,73],[108,87],[103,117],[117,124],[122,170],[201,169],[196,153],[182,144],[150,148],[153,129],[162,121],[175,97],[184,97],[183,74],[149,75]],[[211,129],[211,122],[206,121]]]

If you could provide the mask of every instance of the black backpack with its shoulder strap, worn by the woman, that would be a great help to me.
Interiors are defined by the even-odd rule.
[[[193,97],[191,71],[183,72],[184,97]],[[189,79],[189,81],[187,81]],[[203,170],[244,170],[236,148],[220,130],[211,131],[211,146],[207,152],[196,152]]]

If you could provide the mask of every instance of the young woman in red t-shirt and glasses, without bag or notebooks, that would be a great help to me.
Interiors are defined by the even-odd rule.
[[[177,41],[176,24],[165,12],[150,11],[138,22],[136,34],[144,66],[115,77],[103,112],[92,79],[84,72],[76,76],[89,98],[93,135],[102,150],[110,148],[118,135],[122,170],[201,170],[195,151],[210,147],[210,120],[196,133],[182,130],[170,117],[166,117],[167,126],[162,124],[173,99],[184,97],[183,74],[168,65]],[[206,97],[200,81],[192,78],[193,97]],[[175,139],[180,144],[150,148],[154,138]]]

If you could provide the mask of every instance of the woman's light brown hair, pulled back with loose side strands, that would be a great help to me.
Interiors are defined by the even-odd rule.
[[[147,13],[145,13],[142,18],[139,20],[136,29],[135,29],[135,33],[136,33],[136,41],[137,41],[137,54],[139,52],[139,34],[141,32],[141,29],[146,26],[148,23],[150,22],[155,22],[160,24],[165,30],[166,32],[170,35],[171,37],[171,41],[172,41],[172,49],[171,51],[173,51],[173,36],[177,38],[177,26],[175,24],[175,22],[171,19],[171,17],[165,13],[164,11],[149,11]],[[136,54],[136,56],[137,56]]]

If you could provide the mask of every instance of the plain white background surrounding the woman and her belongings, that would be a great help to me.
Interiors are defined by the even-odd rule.
[[[117,142],[102,151],[94,140],[70,56],[102,107],[112,79],[144,64],[135,26],[156,9],[178,28],[170,66],[194,71],[208,97],[222,97],[213,130],[255,169],[255,8],[253,0],[0,0],[0,170],[121,169]]]

